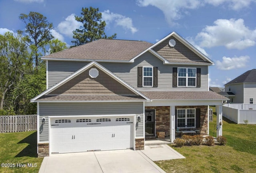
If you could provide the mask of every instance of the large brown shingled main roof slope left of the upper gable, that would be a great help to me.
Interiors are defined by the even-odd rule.
[[[143,41],[100,39],[44,58],[128,61],[152,45]]]

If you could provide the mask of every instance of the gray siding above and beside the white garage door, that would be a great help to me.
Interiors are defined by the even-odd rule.
[[[142,121],[138,124],[138,135],[143,137],[143,102],[120,102],[120,103],[40,103],[39,104],[39,141],[48,141],[48,116],[63,115],[113,115],[113,114],[136,114],[141,115]],[[46,121],[42,124],[42,117]],[[137,121],[137,119],[136,119]],[[136,123],[136,121],[134,123]]]

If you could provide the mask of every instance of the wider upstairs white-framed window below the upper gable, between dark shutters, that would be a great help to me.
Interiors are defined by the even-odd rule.
[[[196,87],[196,68],[178,68],[178,86]]]

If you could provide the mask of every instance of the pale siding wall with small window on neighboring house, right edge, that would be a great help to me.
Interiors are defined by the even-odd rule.
[[[250,104],[250,98],[253,99],[253,104],[256,104],[256,84],[244,84],[244,103]]]

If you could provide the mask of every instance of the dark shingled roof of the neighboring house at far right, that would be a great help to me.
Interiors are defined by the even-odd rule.
[[[256,83],[256,69],[248,70],[244,74],[241,74],[237,78],[228,82],[225,85],[239,84],[239,83]]]

